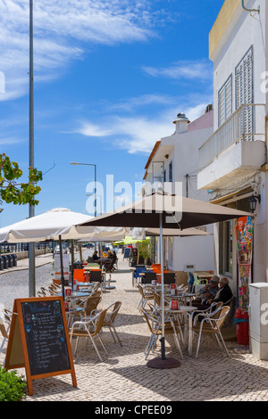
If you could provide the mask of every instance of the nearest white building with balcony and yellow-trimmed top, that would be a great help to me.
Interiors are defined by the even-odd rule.
[[[214,62],[214,135],[199,149],[197,187],[220,205],[250,212],[257,197],[251,280],[268,279],[267,19],[265,0],[225,0],[209,35]],[[247,9],[247,10],[246,10]],[[236,222],[214,228],[215,271],[239,279]]]

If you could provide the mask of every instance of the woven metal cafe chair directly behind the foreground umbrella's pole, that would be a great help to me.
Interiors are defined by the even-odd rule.
[[[144,308],[141,309],[149,331],[151,333],[150,337],[149,337],[149,341],[147,343],[147,347],[144,351],[145,353],[145,359],[147,359],[147,357],[149,356],[149,353],[151,351],[151,349],[156,345],[158,337],[162,336],[162,321],[161,321],[161,316],[155,315],[153,312],[148,312],[147,310],[145,310]],[[174,338],[174,342],[176,345],[176,348],[179,350],[180,352],[180,357],[181,359],[183,359],[182,356],[182,352],[180,349],[180,341],[179,341],[179,337],[178,337],[178,332],[177,332],[177,328],[174,325],[172,318],[166,318],[164,321],[164,334],[165,335],[169,335],[172,334],[173,338]]]

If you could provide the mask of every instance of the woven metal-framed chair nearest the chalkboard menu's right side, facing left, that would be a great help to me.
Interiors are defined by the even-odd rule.
[[[96,316],[89,318],[89,319],[83,319],[77,322],[74,322],[71,325],[71,332],[70,332],[70,339],[72,341],[73,337],[76,337],[76,345],[74,349],[74,356],[76,356],[76,352],[78,349],[78,343],[80,341],[80,338],[86,338],[86,349],[87,349],[87,341],[88,338],[92,342],[92,345],[94,349],[96,350],[97,356],[99,357],[100,361],[103,361],[103,358],[100,356],[100,353],[96,347],[96,338],[100,341],[103,349],[105,350],[105,354],[108,356],[108,353],[105,349],[105,345],[103,341],[100,338],[100,332],[102,330],[102,326],[105,320],[107,310],[102,310],[100,313],[97,313]]]

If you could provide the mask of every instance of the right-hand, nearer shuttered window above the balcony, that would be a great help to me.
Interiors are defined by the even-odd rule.
[[[236,108],[239,109],[242,104],[247,103],[254,103],[252,46],[236,68]],[[253,132],[253,123],[253,106],[246,106],[244,108],[243,118],[241,119],[241,133],[247,135],[247,140],[252,139],[248,135]]]

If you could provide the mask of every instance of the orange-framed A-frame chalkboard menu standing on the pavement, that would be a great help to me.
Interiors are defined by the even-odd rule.
[[[32,380],[71,374],[77,387],[63,297],[14,300],[5,369],[25,367],[29,395]]]

